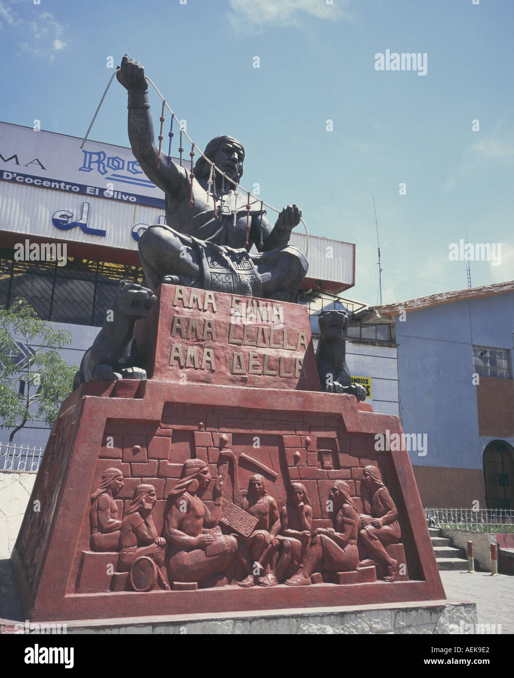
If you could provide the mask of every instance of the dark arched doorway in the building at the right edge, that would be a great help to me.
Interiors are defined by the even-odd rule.
[[[483,450],[483,481],[488,509],[514,509],[514,448],[505,440]]]

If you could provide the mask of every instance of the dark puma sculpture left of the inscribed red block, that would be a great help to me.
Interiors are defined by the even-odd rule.
[[[102,329],[91,348],[84,353],[79,372],[73,379],[73,390],[96,379],[146,379],[146,370],[134,340],[136,320],[147,318],[157,297],[151,290],[121,280]]]

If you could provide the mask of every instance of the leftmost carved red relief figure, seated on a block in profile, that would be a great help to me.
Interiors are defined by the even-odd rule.
[[[121,519],[115,497],[123,485],[123,474],[119,468],[107,468],[98,489],[91,496],[92,551],[117,551],[119,548]]]

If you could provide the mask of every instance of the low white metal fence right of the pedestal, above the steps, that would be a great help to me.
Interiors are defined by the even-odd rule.
[[[514,532],[512,509],[424,509],[430,527],[469,532]]]

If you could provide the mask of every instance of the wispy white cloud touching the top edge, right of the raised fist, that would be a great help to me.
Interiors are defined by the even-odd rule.
[[[249,24],[258,28],[294,26],[302,15],[335,21],[351,18],[344,11],[349,3],[350,0],[334,0],[333,5],[325,0],[230,0],[233,11],[229,12],[229,19],[239,31],[248,28]]]

